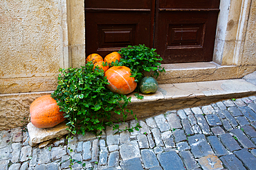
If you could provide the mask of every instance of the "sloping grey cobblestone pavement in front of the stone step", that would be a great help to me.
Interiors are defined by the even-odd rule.
[[[0,169],[68,169],[69,155],[73,169],[256,169],[255,112],[256,96],[223,100],[140,120],[140,131],[109,127],[101,138],[75,136],[67,146],[63,137],[42,149],[20,127],[1,131]]]

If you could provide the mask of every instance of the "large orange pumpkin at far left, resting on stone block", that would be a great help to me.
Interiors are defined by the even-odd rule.
[[[66,119],[63,114],[50,94],[35,99],[30,105],[31,123],[38,128],[54,127],[62,123]]]

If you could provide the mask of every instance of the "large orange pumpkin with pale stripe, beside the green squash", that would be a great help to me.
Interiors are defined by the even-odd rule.
[[[136,89],[137,83],[134,81],[134,77],[130,77],[131,70],[128,67],[113,66],[105,72],[104,76],[108,79],[109,85],[107,85],[107,88],[111,92],[129,94]]]

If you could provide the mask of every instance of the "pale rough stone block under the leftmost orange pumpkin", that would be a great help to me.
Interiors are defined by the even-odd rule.
[[[68,134],[65,123],[60,123],[59,125],[51,128],[37,128],[32,123],[28,123],[27,127],[30,137],[29,145],[32,147],[40,142],[53,138],[60,138],[60,136]]]

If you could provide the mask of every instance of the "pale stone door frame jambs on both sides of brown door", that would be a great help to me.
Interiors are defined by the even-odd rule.
[[[252,0],[221,0],[217,21],[217,34],[214,43],[213,61],[219,65],[241,65],[243,45]],[[84,0],[64,0],[62,6],[64,67],[80,67],[85,63],[85,23]],[[231,30],[229,24],[234,21]],[[80,41],[83,40],[84,41]]]

